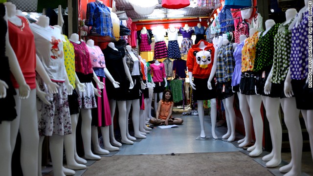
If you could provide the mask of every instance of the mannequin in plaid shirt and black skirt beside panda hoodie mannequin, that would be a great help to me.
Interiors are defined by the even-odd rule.
[[[221,46],[221,48],[219,49],[222,49],[221,51],[223,52],[223,47],[226,47],[226,45],[229,44],[229,41],[227,39],[227,35],[226,34],[223,34],[223,46]],[[232,44],[233,45],[233,44]],[[234,46],[233,46],[234,48]],[[224,51],[226,52],[226,50]],[[231,49],[230,51],[231,53],[233,53],[233,49]],[[223,55],[223,54],[222,54]],[[224,59],[224,55],[223,57],[218,57],[218,60],[220,59]],[[231,59],[234,61],[234,58],[231,57],[231,58],[227,58],[227,59]],[[220,61],[221,62],[221,61]],[[222,61],[224,63],[224,61]],[[229,63],[229,61],[227,61],[227,63]],[[232,64],[234,64],[234,62],[232,62]],[[227,72],[227,70],[223,70],[225,72]],[[217,74],[217,75],[220,75],[220,74]],[[235,128],[236,128],[236,115],[235,115],[235,110],[234,110],[234,94],[232,92],[232,90],[230,90],[231,88],[231,85],[230,84],[227,84],[227,83],[231,83],[231,80],[227,81],[227,82],[220,82],[219,83],[219,80],[224,80],[224,78],[220,78],[221,76],[218,76],[218,84],[221,85],[223,84],[223,90],[224,90],[224,93],[223,93],[223,90],[222,92],[220,92],[220,94],[224,94],[222,95],[222,101],[223,101],[223,105],[224,105],[224,109],[225,109],[225,114],[226,114],[226,122],[227,122],[227,133],[224,134],[222,136],[223,139],[227,139],[228,142],[232,142],[235,140]],[[232,75],[231,75],[232,77]],[[229,89],[229,92],[227,92],[226,89]],[[221,90],[221,89],[220,89]],[[226,98],[225,98],[226,97]]]

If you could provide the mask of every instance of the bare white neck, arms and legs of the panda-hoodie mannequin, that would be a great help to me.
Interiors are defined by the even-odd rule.
[[[206,45],[203,42],[200,42],[199,44],[199,48],[204,49],[206,47]],[[207,81],[207,87],[209,89],[212,89],[212,85],[211,85],[211,80],[213,79],[215,72],[216,72],[216,65],[217,65],[217,49],[215,49],[215,53],[214,53],[214,62],[213,62],[213,66],[212,66],[212,70],[210,73],[210,77],[209,80]],[[192,82],[192,72],[188,72],[188,76],[189,76],[189,82],[190,82],[190,86],[193,89],[196,89],[197,85],[195,85]],[[201,134],[200,137],[201,138],[205,138],[205,132],[204,132],[204,110],[203,110],[203,100],[197,100],[198,103],[198,113],[199,113],[199,120],[200,120],[200,126],[201,126]],[[212,124],[212,136],[214,139],[217,139],[217,135],[215,133],[215,125],[216,125],[216,99],[212,98],[210,100],[211,103],[211,124]]]

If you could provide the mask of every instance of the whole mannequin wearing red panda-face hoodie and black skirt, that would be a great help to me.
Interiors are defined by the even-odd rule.
[[[198,45],[198,46],[197,46]],[[200,77],[200,75],[203,75],[203,74],[201,74],[201,68],[200,68],[200,71],[197,71],[196,69],[197,69],[197,67],[195,67],[195,70],[194,70],[194,66],[196,65],[196,64],[194,64],[193,62],[193,60],[195,60],[195,58],[193,58],[194,57],[194,52],[196,52],[196,51],[203,51],[204,49],[207,49],[207,51],[208,52],[210,52],[210,54],[209,53],[207,53],[207,52],[205,52],[205,53],[207,53],[207,55],[208,56],[210,56],[210,58],[212,59],[212,58],[214,58],[214,61],[213,61],[213,64],[212,64],[212,67],[211,67],[211,70],[208,70],[208,71],[210,71],[210,74],[208,75],[208,74],[206,74],[206,76],[205,77],[207,77],[208,76],[208,78],[206,78],[206,79],[208,79],[208,81],[207,81],[207,88],[209,89],[209,90],[213,90],[212,92],[210,92],[210,94],[212,94],[211,96],[212,97],[214,97],[214,98],[210,98],[210,101],[211,101],[211,123],[212,123],[212,129],[211,129],[211,131],[212,131],[212,136],[213,136],[213,138],[214,139],[217,139],[217,135],[216,135],[216,133],[215,133],[215,125],[216,125],[216,95],[214,94],[214,92],[215,92],[215,90],[214,90],[214,88],[215,88],[215,84],[214,85],[212,85],[212,83],[213,83],[213,81],[212,81],[212,79],[213,79],[213,77],[214,77],[214,75],[215,75],[215,72],[216,72],[216,66],[217,66],[217,49],[215,49],[214,48],[214,46],[213,45],[211,45],[211,44],[208,44],[207,42],[205,42],[204,40],[201,40],[200,42],[199,42],[199,44],[196,44],[196,45],[194,45],[190,50],[189,50],[189,52],[188,52],[188,58],[187,58],[187,67],[188,67],[188,70],[189,70],[189,72],[188,72],[188,75],[189,75],[189,81],[190,81],[190,86],[193,88],[193,89],[195,89],[195,90],[197,90],[196,88],[198,88],[198,91],[199,90],[206,90],[206,88],[201,88],[201,86],[202,87],[205,87],[205,85],[199,85],[198,87],[197,87],[197,85],[195,85],[194,84],[194,82],[192,81],[192,77],[193,77],[193,75],[196,75],[196,74],[193,74],[193,72],[195,72],[195,73],[197,73],[197,77]],[[200,53],[200,52],[198,52],[198,53]],[[203,51],[203,53],[204,53],[204,51]],[[212,56],[212,53],[214,53],[214,57],[211,57]],[[197,55],[195,55],[195,56],[197,56]],[[207,57],[206,55],[205,55],[205,57]],[[208,58],[208,57],[207,57]],[[211,61],[211,60],[210,60]],[[203,64],[206,64],[207,63],[207,61],[205,61],[205,63],[203,63]],[[197,63],[198,65],[200,65],[199,63]],[[209,64],[211,64],[211,63],[209,63]],[[198,66],[198,65],[196,65],[196,66]],[[201,66],[201,65],[200,65]],[[198,68],[199,69],[199,68]],[[192,71],[190,71],[190,70],[192,70]],[[207,72],[205,72],[205,73],[207,73]],[[196,79],[196,78],[194,78],[194,79]],[[201,79],[201,77],[200,78],[198,78],[198,79]],[[204,78],[205,79],[205,78]],[[204,79],[201,79],[201,80],[204,80]],[[205,80],[204,80],[205,81]],[[204,83],[204,82],[203,82]],[[201,92],[199,92],[199,93],[201,93]],[[205,97],[203,97],[203,98],[205,98]],[[205,100],[206,100],[207,98],[205,98]],[[198,102],[198,112],[199,112],[199,120],[200,120],[200,126],[201,126],[201,134],[200,134],[200,137],[201,138],[205,138],[205,132],[204,132],[204,110],[203,110],[203,100],[197,100],[197,102]]]

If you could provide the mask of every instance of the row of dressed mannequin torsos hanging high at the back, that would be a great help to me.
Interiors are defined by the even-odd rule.
[[[152,36],[155,38],[155,59],[171,58],[180,59],[181,54],[187,54],[188,50],[194,44],[191,36],[196,34],[195,44],[198,44],[200,40],[204,40],[205,26],[201,26],[198,23],[197,26],[190,27],[185,24],[179,29],[170,27],[168,29],[157,27],[154,30],[142,27],[140,31],[137,31],[139,51],[151,51]],[[182,43],[178,44],[178,32],[182,34]],[[166,47],[164,36],[168,36],[168,46]]]

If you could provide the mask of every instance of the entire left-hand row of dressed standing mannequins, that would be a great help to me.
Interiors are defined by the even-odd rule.
[[[0,4],[0,8],[1,41],[6,46],[0,53],[5,68],[1,69],[0,103],[10,114],[0,118],[1,174],[11,176],[18,131],[24,176],[41,175],[45,136],[49,136],[55,176],[74,175],[74,170],[85,169],[87,161],[76,153],[79,114],[84,158],[98,160],[101,157],[96,154],[118,151],[122,144],[115,140],[112,124],[116,104],[121,142],[133,144],[136,138],[146,138],[152,130],[145,123],[152,118],[151,106],[147,106],[152,102],[149,88],[154,89],[155,99],[157,95],[161,99],[167,86],[164,65],[149,65],[130,45],[115,47],[109,43],[101,50],[93,40],[80,41],[78,34],[67,39],[61,34],[61,26],[50,26],[45,15],[30,23],[17,15],[11,2]],[[131,106],[134,136],[128,132]],[[104,149],[99,146],[98,127]],[[63,146],[67,168],[63,167]]]

